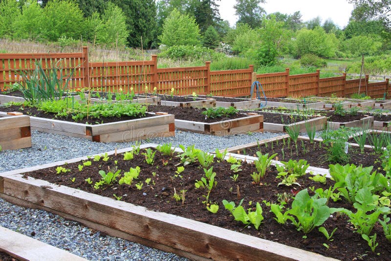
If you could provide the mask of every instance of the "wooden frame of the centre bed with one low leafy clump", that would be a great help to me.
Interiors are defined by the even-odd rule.
[[[263,132],[263,115],[246,113],[246,117],[204,123],[187,120],[175,120],[175,128],[182,131],[191,131],[216,136],[244,134],[247,132]]]

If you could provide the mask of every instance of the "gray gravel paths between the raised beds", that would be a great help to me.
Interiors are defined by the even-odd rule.
[[[282,133],[252,133],[233,136],[212,136],[175,131],[175,137],[153,138],[141,143],[195,144],[204,151],[225,149],[240,144],[267,139]],[[127,148],[134,142],[95,143],[86,139],[32,131],[32,147],[0,152],[0,172],[66,160],[114,148]],[[0,198],[0,226],[65,249],[88,260],[186,260],[171,253],[133,243],[124,239],[101,235],[78,222],[42,211],[18,207]],[[35,234],[35,236],[32,236]]]

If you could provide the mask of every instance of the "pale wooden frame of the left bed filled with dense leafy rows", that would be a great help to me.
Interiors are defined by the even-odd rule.
[[[95,125],[31,116],[30,124],[31,130],[85,138],[96,142],[124,142],[175,136],[174,115],[152,115],[148,118]]]

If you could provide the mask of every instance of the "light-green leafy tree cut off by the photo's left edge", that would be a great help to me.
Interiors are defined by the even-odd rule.
[[[15,32],[15,19],[20,15],[21,9],[16,0],[0,1],[0,37],[12,37]]]

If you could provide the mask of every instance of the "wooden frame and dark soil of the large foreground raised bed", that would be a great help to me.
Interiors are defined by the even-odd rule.
[[[118,153],[125,151],[119,150]],[[114,152],[108,152],[110,159],[107,163],[100,160],[92,163],[91,167],[95,168],[102,165],[102,168],[111,166],[111,169],[113,169],[113,161],[117,160],[118,168],[124,168],[122,162],[123,155],[112,155],[112,153]],[[63,166],[72,169],[69,174],[76,177],[74,181],[70,180],[71,178],[69,177],[71,176],[51,172],[49,172],[51,174],[47,174],[48,172],[44,171],[44,168],[48,167],[52,167],[50,170],[53,171],[57,165],[62,165],[65,161],[2,173],[0,174],[3,177],[0,181],[0,196],[19,204],[29,205],[30,207],[36,206],[56,214],[60,213],[66,216],[66,218],[87,223],[94,229],[105,229],[104,231],[108,231],[108,234],[132,238],[134,241],[152,245],[165,251],[172,251],[193,260],[205,260],[205,258],[214,260],[331,260],[325,256],[295,248],[299,246],[303,249],[328,256],[331,255],[341,260],[352,260],[362,254],[368,255],[366,257],[368,260],[387,260],[388,258],[387,251],[389,251],[389,245],[386,239],[381,236],[379,227],[374,228],[374,231],[378,233],[377,241],[379,242],[376,252],[379,252],[380,256],[377,256],[368,252],[369,247],[365,244],[365,241],[362,241],[363,239],[361,239],[360,235],[352,233],[346,227],[347,218],[341,215],[334,215],[324,224],[327,230],[339,227],[333,237],[333,241],[327,241],[316,230],[307,234],[307,239],[303,239],[303,233],[298,232],[293,226],[279,225],[273,219],[273,214],[267,210],[263,203],[264,211],[262,215],[265,218],[263,220],[264,223],[260,226],[260,230],[254,229],[253,226],[245,228],[240,222],[234,221],[230,217],[229,212],[221,206],[221,198],[239,203],[237,197],[245,196],[243,206],[255,204],[250,203],[250,201],[260,202],[261,199],[276,201],[275,197],[266,196],[267,194],[265,194],[270,189],[274,190],[274,192],[271,192],[272,195],[276,193],[275,189],[278,181],[275,180],[273,167],[270,173],[265,176],[264,185],[260,189],[258,186],[251,185],[251,178],[248,178],[247,175],[254,170],[254,166],[245,162],[242,163],[243,172],[240,174],[243,175],[235,183],[241,188],[241,193],[244,193],[244,195],[239,196],[232,194],[228,190],[234,184],[228,178],[228,175],[232,174],[229,166],[227,167],[222,163],[214,164],[219,189],[216,187],[216,190],[213,190],[211,200],[216,200],[221,209],[217,214],[211,214],[205,209],[205,205],[200,202],[202,201],[202,196],[200,195],[204,193],[204,190],[194,188],[194,180],[202,175],[199,173],[198,164],[187,165],[185,167],[186,171],[182,173],[183,179],[179,177],[170,178],[170,175],[173,175],[177,169],[175,165],[179,160],[178,158],[175,157],[176,160],[174,160],[173,157],[173,161],[169,161],[170,156],[159,156],[159,152],[157,152],[155,163],[149,166],[146,163],[142,163],[145,158],[144,155],[135,155],[134,157],[130,164],[125,165],[125,169],[129,169],[129,166],[141,166],[139,180],[143,181],[145,177],[150,176],[156,182],[153,182],[153,185],[152,183],[150,185],[145,184],[145,187],[140,191],[133,188],[133,185],[131,188],[128,185],[115,185],[115,189],[105,188],[95,191],[95,193],[102,195],[99,196],[88,192],[89,189],[85,192],[70,188],[70,186],[80,187],[81,183],[86,183],[83,181],[85,176],[82,176],[81,173],[77,175],[72,174],[80,172],[77,167],[79,164],[83,164],[80,160],[88,160],[87,157],[84,157],[67,160],[67,164]],[[165,164],[166,161],[168,162],[167,164]],[[115,164],[117,165],[117,163]],[[159,168],[156,168],[156,166],[159,166]],[[88,169],[87,166],[85,168],[86,170]],[[40,179],[22,177],[22,173],[30,171],[35,173],[31,175],[39,175],[42,178],[43,176],[53,176],[60,185],[54,185]],[[151,171],[155,172],[155,175],[151,174]],[[44,172],[47,175],[43,174]],[[30,176],[30,174],[28,175]],[[88,176],[91,179],[99,179],[99,174],[96,176],[91,173]],[[320,185],[320,183],[310,181],[307,177],[300,179],[299,182],[304,187],[328,188],[332,185],[330,180],[325,185]],[[152,186],[153,190],[151,189]],[[122,190],[123,187],[126,188],[126,193]],[[186,190],[185,204],[181,205],[180,201],[176,202],[172,198],[175,187],[178,192],[182,188]],[[279,190],[285,193],[289,193],[290,189],[291,187],[279,187]],[[113,193],[116,196],[123,196],[121,201],[113,200]],[[143,193],[145,193],[145,196]],[[144,205],[150,210],[135,206],[129,202]],[[332,206],[338,207],[336,204],[332,204]],[[153,210],[157,210],[157,212]],[[184,215],[185,217],[182,218],[176,215]],[[226,228],[230,228],[233,231]],[[269,240],[276,240],[291,246]],[[329,245],[328,250],[322,246],[323,242],[327,242]],[[362,244],[358,246],[357,242],[362,242]]]

